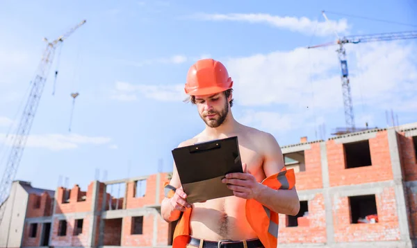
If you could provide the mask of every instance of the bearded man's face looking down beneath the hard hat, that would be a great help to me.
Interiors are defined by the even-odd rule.
[[[195,102],[199,116],[208,127],[222,125],[229,113],[229,100],[224,96],[224,93],[195,96]]]

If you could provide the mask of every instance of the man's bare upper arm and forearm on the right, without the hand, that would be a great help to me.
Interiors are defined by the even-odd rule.
[[[269,177],[284,168],[284,157],[277,140],[272,134],[264,133],[262,136],[263,171],[266,177]],[[276,213],[297,215],[300,211],[300,200],[295,186],[291,190],[274,190],[261,184],[261,191],[258,191],[258,194],[255,195],[255,200]]]

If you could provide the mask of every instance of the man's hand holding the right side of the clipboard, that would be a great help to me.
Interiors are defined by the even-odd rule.
[[[227,184],[235,196],[244,199],[256,199],[263,189],[263,185],[247,172],[246,163],[243,163],[243,173],[229,173],[222,183]]]

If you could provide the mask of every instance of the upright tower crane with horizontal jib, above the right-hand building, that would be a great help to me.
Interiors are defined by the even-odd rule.
[[[324,10],[322,11],[322,15],[323,17],[325,17],[326,21],[329,21]],[[349,43],[358,44],[358,43],[364,43],[364,42],[381,42],[381,41],[389,41],[389,40],[394,40],[394,39],[416,39],[417,31],[379,33],[379,34],[371,34],[371,35],[352,35],[352,36],[345,36],[343,38],[339,37],[336,30],[334,30],[334,33],[337,38],[336,42],[328,42],[328,43],[319,44],[316,46],[308,46],[307,48],[318,48],[318,47],[333,46],[333,45],[339,46],[336,52],[338,53],[338,59],[339,59],[340,68],[341,68],[343,105],[345,109],[346,127],[341,130],[338,130],[336,134],[357,132],[363,129],[355,127],[355,123],[354,123],[352,96],[350,93],[350,79],[349,79],[349,72],[347,70],[346,51],[343,45],[349,44]]]

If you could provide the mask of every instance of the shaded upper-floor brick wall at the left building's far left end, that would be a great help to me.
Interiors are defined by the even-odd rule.
[[[48,193],[44,192],[42,195],[29,194],[26,218],[51,216],[53,207],[54,201]]]

